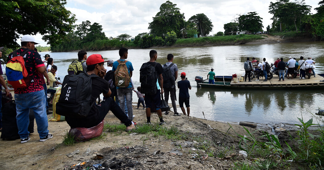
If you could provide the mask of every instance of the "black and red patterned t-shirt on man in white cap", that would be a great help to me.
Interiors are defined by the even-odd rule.
[[[23,53],[28,48],[19,48],[17,50],[17,55],[19,56],[21,53]],[[7,61],[12,59],[12,55],[14,52],[10,53],[8,55]],[[25,60],[25,67],[27,69],[27,72],[29,76],[31,77],[30,85],[26,88],[17,88],[15,90],[15,94],[24,94],[24,93],[30,93],[35,91],[41,91],[43,90],[43,85],[41,82],[41,79],[44,79],[43,75],[39,73],[36,68],[45,66],[43,61],[41,60],[41,55],[36,51],[29,51],[26,53],[24,57]]]

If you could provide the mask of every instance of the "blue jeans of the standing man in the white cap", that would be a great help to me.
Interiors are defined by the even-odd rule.
[[[21,139],[26,139],[29,135],[29,109],[33,109],[37,123],[37,131],[40,138],[48,135],[48,122],[45,105],[44,90],[24,94],[15,94],[17,109],[18,134]]]

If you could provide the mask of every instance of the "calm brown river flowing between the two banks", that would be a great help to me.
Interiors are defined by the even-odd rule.
[[[140,86],[139,69],[149,60],[151,49],[130,49],[128,59],[133,63],[133,83],[135,88]],[[316,113],[318,107],[324,107],[324,93],[322,90],[217,90],[199,89],[194,81],[195,76],[207,78],[211,68],[216,75],[242,74],[243,64],[247,57],[262,60],[264,57],[273,63],[277,57],[295,57],[297,61],[302,55],[313,57],[316,62],[316,73],[324,73],[324,42],[301,43],[267,43],[241,44],[211,47],[179,47],[157,48],[157,62],[167,62],[167,55],[174,55],[173,62],[178,65],[179,74],[186,72],[191,83],[190,109],[191,116],[217,121],[250,121],[257,123],[298,123],[297,117],[308,120],[311,113]],[[119,59],[118,50],[90,51],[91,54],[100,54],[104,59]],[[77,59],[77,52],[41,52],[41,56],[50,54],[54,65],[58,67],[58,76],[64,78],[68,65]],[[178,76],[180,78],[180,76]],[[179,81],[179,78],[177,81]],[[277,79],[274,76],[274,79]],[[177,90],[177,96],[179,90]],[[177,97],[178,98],[178,97]],[[133,93],[133,102],[137,102],[136,93]],[[169,103],[171,100],[169,99]],[[177,104],[179,104],[177,102]],[[170,104],[171,106],[171,104]],[[181,112],[178,108],[178,112]],[[144,114],[144,113],[143,113]],[[302,115],[301,115],[302,114]],[[166,118],[167,119],[167,118]]]

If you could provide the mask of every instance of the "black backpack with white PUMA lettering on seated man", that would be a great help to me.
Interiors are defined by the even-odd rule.
[[[67,117],[86,117],[95,103],[91,103],[91,77],[95,76],[83,71],[78,71],[74,75],[66,75],[60,98],[56,103],[56,113]]]

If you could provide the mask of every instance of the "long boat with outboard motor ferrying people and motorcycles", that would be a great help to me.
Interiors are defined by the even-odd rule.
[[[214,83],[208,84],[208,79],[203,80],[202,77],[196,76],[195,81],[197,87],[201,88],[221,88],[221,89],[324,89],[324,74],[317,74],[316,77],[310,79],[287,79],[278,81],[278,77],[273,77],[271,80],[255,81],[238,81],[234,83],[232,76],[215,76]],[[237,77],[241,75],[237,74]]]

